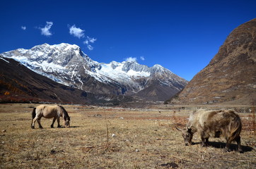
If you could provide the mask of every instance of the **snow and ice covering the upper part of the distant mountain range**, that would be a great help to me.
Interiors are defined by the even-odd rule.
[[[185,80],[161,65],[148,67],[134,61],[98,63],[84,54],[76,44],[42,44],[31,49],[7,51],[2,55],[6,58],[13,58],[30,70],[56,82],[79,89],[87,89],[84,80],[87,80],[88,76],[105,84],[122,87],[122,93],[127,89],[139,92],[153,77],[162,78],[161,83],[168,86],[176,82],[186,83]],[[144,78],[146,81],[142,80]]]

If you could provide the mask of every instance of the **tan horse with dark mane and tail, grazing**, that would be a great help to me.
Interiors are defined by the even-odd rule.
[[[40,105],[33,109],[32,112],[32,123],[31,127],[35,129],[35,121],[37,121],[40,129],[42,129],[42,125],[40,123],[41,118],[53,118],[51,127],[53,128],[54,122],[57,119],[58,127],[61,127],[59,125],[59,118],[62,117],[64,119],[64,124],[66,127],[69,127],[70,125],[70,117],[69,114],[66,112],[64,107],[55,105],[55,106],[49,106],[49,105]]]

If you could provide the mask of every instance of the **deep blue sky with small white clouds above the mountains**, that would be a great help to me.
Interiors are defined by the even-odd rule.
[[[94,61],[163,65],[191,80],[228,34],[256,18],[256,1],[0,2],[0,53],[38,44],[77,44]]]

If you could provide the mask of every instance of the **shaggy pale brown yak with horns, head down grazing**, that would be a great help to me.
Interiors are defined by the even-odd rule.
[[[179,129],[178,129],[179,130]],[[185,145],[192,144],[192,137],[199,132],[202,146],[209,145],[209,137],[225,137],[226,151],[231,151],[230,144],[236,141],[238,151],[243,152],[240,144],[241,120],[234,111],[194,111],[190,114],[187,128],[182,130]]]

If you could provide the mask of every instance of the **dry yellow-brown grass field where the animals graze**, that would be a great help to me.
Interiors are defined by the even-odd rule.
[[[240,113],[243,154],[224,151],[225,140],[209,147],[185,146],[175,126],[190,111],[64,105],[71,127],[30,128],[35,104],[0,104],[0,168],[256,168],[256,135],[250,113]],[[61,120],[63,126],[63,120]]]

